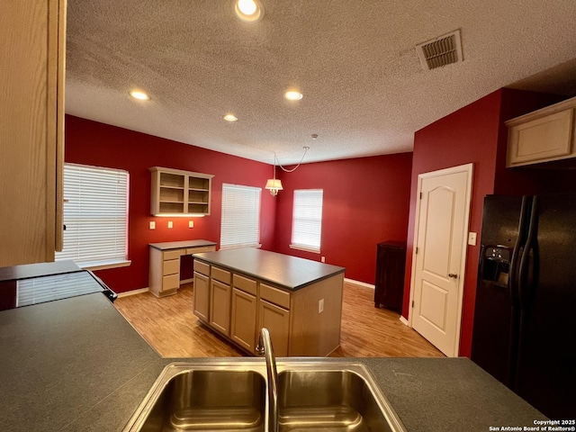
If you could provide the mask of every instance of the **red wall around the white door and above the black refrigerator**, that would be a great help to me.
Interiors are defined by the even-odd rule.
[[[565,172],[507,169],[508,131],[504,121],[534,111],[561,97],[518,90],[500,89],[447,115],[414,135],[407,266],[402,315],[410,309],[410,277],[414,244],[418,175],[450,166],[473,163],[473,196],[470,231],[482,232],[484,196],[490,193],[554,192],[554,184],[566,178]],[[536,171],[536,173],[535,173]],[[572,181],[573,183],[573,181]],[[480,243],[468,246],[464,275],[464,304],[460,356],[470,356],[473,313]]]

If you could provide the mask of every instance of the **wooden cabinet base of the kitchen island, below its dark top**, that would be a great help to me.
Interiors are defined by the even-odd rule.
[[[193,313],[203,325],[252,356],[263,327],[270,331],[275,356],[329,356],[340,346],[343,271],[289,290],[236,268],[214,266],[204,255],[209,254],[194,256],[193,288]],[[223,273],[231,275],[225,282]],[[216,325],[224,321],[225,326]]]

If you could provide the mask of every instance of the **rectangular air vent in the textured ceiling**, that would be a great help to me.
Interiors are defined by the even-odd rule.
[[[460,30],[452,31],[416,46],[420,63],[427,70],[462,61]]]

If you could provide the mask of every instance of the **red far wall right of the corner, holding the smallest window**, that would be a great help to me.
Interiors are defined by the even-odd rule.
[[[347,267],[346,277],[374,284],[376,244],[406,240],[411,153],[361,157],[280,171],[284,191],[276,196],[275,250]],[[278,170],[276,170],[278,172]],[[293,191],[323,189],[321,253],[289,247]]]

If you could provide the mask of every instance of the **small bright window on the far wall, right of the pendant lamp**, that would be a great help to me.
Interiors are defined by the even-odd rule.
[[[322,189],[294,191],[292,244],[294,249],[320,253]]]

